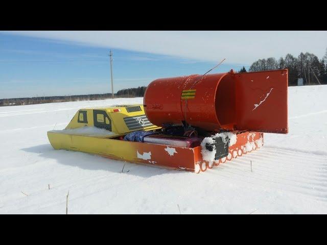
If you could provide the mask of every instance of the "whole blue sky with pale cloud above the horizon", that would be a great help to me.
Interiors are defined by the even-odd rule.
[[[322,40],[312,44],[316,50],[306,49],[310,46],[303,42],[298,49],[289,45],[286,52],[277,48],[278,41],[275,50],[264,49],[270,39],[258,33],[252,36],[259,43],[246,39],[248,33],[238,43],[235,32],[222,43],[218,32],[0,32],[0,99],[111,92],[110,48],[116,92],[146,86],[156,78],[203,74],[223,58],[214,72],[248,68],[259,58],[292,52],[297,56],[300,50],[322,58],[326,33],[318,33]]]

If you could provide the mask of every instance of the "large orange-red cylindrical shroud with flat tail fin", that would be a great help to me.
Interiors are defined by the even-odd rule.
[[[144,95],[152,124],[288,133],[288,70],[157,79]]]

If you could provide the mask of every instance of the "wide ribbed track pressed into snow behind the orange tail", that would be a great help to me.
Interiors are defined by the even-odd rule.
[[[262,148],[208,171],[220,177],[232,178],[237,182],[255,186],[270,183],[268,188],[273,186],[278,190],[301,193],[327,202],[327,157],[301,152],[293,152],[292,155],[290,150],[279,152],[270,150]],[[316,162],[304,163],[308,159]]]

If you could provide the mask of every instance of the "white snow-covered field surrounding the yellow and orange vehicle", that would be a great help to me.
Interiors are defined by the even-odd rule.
[[[64,214],[68,190],[68,214],[327,213],[327,85],[290,87],[288,135],[265,134],[263,148],[201,174],[121,173],[123,161],[57,151],[46,136],[79,108],[142,101],[0,107],[0,213]]]

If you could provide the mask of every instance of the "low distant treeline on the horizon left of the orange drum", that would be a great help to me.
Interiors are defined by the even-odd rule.
[[[119,90],[114,97],[143,97],[146,87],[137,87]],[[65,95],[65,96],[42,96],[42,97],[26,97],[13,99],[0,99],[0,106],[20,106],[34,105],[54,102],[69,101],[95,101],[110,99],[111,93],[103,94],[83,94],[83,95]]]

